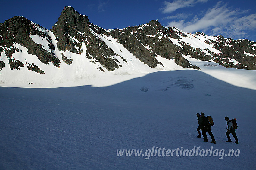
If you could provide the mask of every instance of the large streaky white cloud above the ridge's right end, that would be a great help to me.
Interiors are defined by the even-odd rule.
[[[185,32],[192,33],[202,31],[210,35],[222,34],[231,38],[244,36],[248,30],[256,29],[256,14],[246,15],[247,12],[227,7],[227,4],[223,4],[223,2],[217,2],[203,15],[195,15],[189,21],[186,18],[181,18],[181,14],[175,15],[176,21],[169,22],[167,27],[175,26]],[[170,16],[170,18],[175,19],[175,16]]]

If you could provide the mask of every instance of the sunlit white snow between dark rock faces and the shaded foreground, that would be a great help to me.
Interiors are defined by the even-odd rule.
[[[53,33],[48,30],[42,31],[48,33],[53,41],[53,44],[57,46],[57,40]],[[13,58],[18,59],[26,64],[24,67],[20,67],[20,70],[11,70],[10,67],[5,66],[0,72],[1,86],[44,88],[93,85],[99,87],[113,85],[115,83],[120,83],[135,77],[141,77],[146,74],[161,70],[193,70],[191,68],[182,68],[181,66],[176,65],[174,63],[174,60],[168,60],[159,55],[157,55],[156,59],[158,60],[158,62],[163,63],[164,66],[158,64],[155,68],[150,68],[143,62],[139,61],[139,59],[133,56],[133,54],[131,54],[128,50],[126,50],[126,48],[124,48],[123,45],[121,45],[117,41],[117,39],[114,39],[111,36],[108,37],[104,34],[99,35],[95,33],[95,35],[101,38],[101,40],[104,41],[105,44],[108,45],[108,47],[110,47],[116,54],[119,55],[115,56],[115,58],[120,62],[120,65],[122,65],[122,67],[115,69],[115,71],[108,71],[97,61],[95,61],[96,64],[93,64],[92,62],[90,62],[90,59],[86,57],[86,46],[85,44],[83,44],[82,48],[84,52],[81,54],[71,53],[69,51],[59,51],[57,48],[56,50],[52,50],[55,56],[61,61],[60,68],[57,68],[52,64],[52,62],[50,62],[50,66],[42,63],[37,58],[37,56],[28,54],[26,47],[15,43],[13,47],[16,47],[20,50],[14,52]],[[32,38],[36,42],[40,41],[39,36],[32,36]],[[187,37],[187,39],[188,40],[186,40],[185,38],[183,41],[192,41],[193,36],[191,35],[191,37]],[[202,41],[203,40],[204,39],[202,39]],[[47,40],[41,41],[41,44],[45,44],[44,48],[46,48],[47,46],[46,44],[48,41],[46,41]],[[199,42],[197,42],[196,44],[200,45]],[[71,65],[64,63],[62,61],[61,53],[63,53],[68,58],[73,59],[73,63]],[[123,57],[127,61],[127,63],[124,62],[120,56]],[[229,69],[218,65],[215,62],[196,60],[189,55],[184,57],[188,59],[192,65],[197,65],[199,68],[201,68],[200,71],[207,73],[217,79],[223,80],[227,83],[231,83],[239,87],[256,90],[255,70]],[[0,59],[5,63],[8,63],[8,58],[6,57],[5,52],[2,52]],[[43,70],[45,74],[28,71],[27,65],[31,63],[39,66],[39,68]],[[212,65],[214,65],[214,67],[211,67]],[[98,67],[103,68],[103,71],[105,72],[99,70]]]

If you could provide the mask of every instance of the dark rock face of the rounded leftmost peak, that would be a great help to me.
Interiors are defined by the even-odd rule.
[[[42,48],[41,44],[35,43],[30,37],[30,35],[38,35],[46,38],[49,42],[47,48],[55,50],[51,37],[42,26],[39,26],[24,17],[15,16],[0,24],[0,32],[3,38],[2,41],[0,41],[0,46],[5,46],[5,53],[9,60],[11,59],[12,54],[18,50],[14,47],[14,44],[17,42],[26,47],[29,54],[36,55],[41,62],[45,64],[53,62],[56,67],[59,67],[59,59],[52,52]]]

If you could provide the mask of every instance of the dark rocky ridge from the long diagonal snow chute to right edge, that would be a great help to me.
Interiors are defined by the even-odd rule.
[[[181,37],[188,37],[185,33],[175,27],[165,28],[158,20],[122,30],[115,29],[109,34],[113,38],[117,38],[127,50],[150,67],[161,64],[155,59],[156,55],[166,59],[175,59],[176,52],[180,52],[185,56],[189,55],[203,61],[214,61],[228,68],[256,69],[256,44],[246,39],[225,39],[222,35],[217,36],[219,37],[218,41],[206,38],[208,39],[205,40],[206,44],[220,51],[220,53],[214,53],[206,49],[209,52],[206,54],[202,49],[194,47],[193,44],[185,43],[181,39]],[[206,37],[201,32],[195,33],[193,36],[195,38]],[[175,41],[176,43],[173,43]],[[251,56],[246,55],[244,51],[250,53]],[[236,61],[233,62],[233,59],[240,64]]]

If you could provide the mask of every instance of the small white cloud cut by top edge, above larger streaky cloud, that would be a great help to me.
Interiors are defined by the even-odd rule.
[[[161,8],[160,10],[162,13],[171,13],[173,11],[176,11],[180,8],[185,7],[192,7],[198,2],[207,2],[208,0],[174,0],[173,2],[165,1],[164,8]]]

